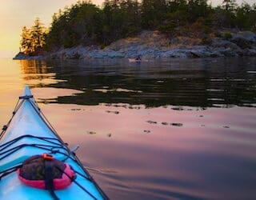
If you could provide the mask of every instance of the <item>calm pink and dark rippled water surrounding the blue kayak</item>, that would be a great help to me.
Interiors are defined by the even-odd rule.
[[[0,60],[0,124],[29,85],[111,199],[256,198],[256,58]]]

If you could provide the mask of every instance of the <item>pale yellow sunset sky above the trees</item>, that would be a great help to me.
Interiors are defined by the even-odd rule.
[[[23,26],[33,26],[34,19],[40,18],[48,27],[54,13],[75,2],[78,0],[0,0],[0,55],[18,52]],[[101,6],[103,0],[91,2]],[[209,2],[216,6],[221,4],[222,0],[209,0]],[[237,0],[237,2],[243,1]],[[252,4],[256,0],[246,0],[246,2]]]

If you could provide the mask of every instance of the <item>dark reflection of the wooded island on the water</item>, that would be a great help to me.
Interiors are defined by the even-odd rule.
[[[82,90],[54,102],[128,103],[147,107],[255,106],[255,58],[154,61],[22,61],[30,86]]]

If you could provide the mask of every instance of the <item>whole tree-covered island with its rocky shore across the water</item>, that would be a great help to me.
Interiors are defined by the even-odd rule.
[[[14,59],[256,56],[256,4],[224,0],[80,1],[22,28]]]

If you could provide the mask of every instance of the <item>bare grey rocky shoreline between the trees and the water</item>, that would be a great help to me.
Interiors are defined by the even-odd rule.
[[[144,59],[256,56],[256,34],[250,31],[222,33],[202,42],[199,38],[181,36],[170,39],[158,31],[143,31],[137,37],[120,39],[104,49],[76,46],[36,57],[19,53],[14,59],[136,58],[138,55]]]

